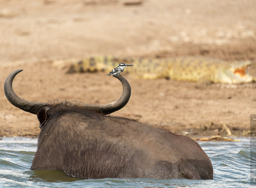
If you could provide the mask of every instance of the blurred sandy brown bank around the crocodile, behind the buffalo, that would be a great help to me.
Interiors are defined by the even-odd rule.
[[[38,121],[3,92],[8,74],[28,101],[55,98],[110,103],[121,84],[103,72],[66,74],[66,62],[101,55],[132,58],[203,56],[256,59],[255,0],[0,0],[0,136],[37,136]],[[113,67],[114,68],[114,67]],[[111,71],[111,70],[109,70]],[[202,84],[136,80],[129,103],[114,115],[188,136],[249,130],[255,83]]]

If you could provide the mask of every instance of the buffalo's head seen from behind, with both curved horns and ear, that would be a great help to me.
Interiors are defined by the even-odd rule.
[[[88,111],[88,112],[94,112],[94,113],[100,113],[100,114],[111,114],[121,108],[123,108],[129,101],[131,96],[131,87],[129,82],[122,77],[121,75],[113,75],[113,77],[120,80],[120,82],[123,85],[123,93],[121,97],[112,103],[105,104],[105,105],[91,105],[91,104],[83,104],[78,101],[61,101],[59,99],[56,99],[54,101],[48,101],[48,102],[31,102],[31,101],[25,101],[19,96],[17,96],[12,88],[12,82],[14,77],[19,73],[23,71],[22,69],[13,71],[5,80],[4,82],[4,93],[8,99],[8,101],[29,113],[37,114],[37,118],[40,122],[40,127],[44,124],[45,120],[51,116],[54,113],[54,109],[56,107],[64,107],[64,108],[76,108],[77,110],[81,111]]]

